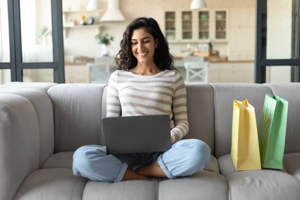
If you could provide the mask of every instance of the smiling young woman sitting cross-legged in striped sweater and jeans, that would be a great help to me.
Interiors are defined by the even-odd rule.
[[[188,132],[186,89],[158,23],[146,17],[131,21],[118,55],[118,69],[107,87],[107,117],[169,114],[172,147],[166,152],[107,154],[105,146],[85,145],[74,152],[73,173],[119,182],[176,178],[203,169],[210,148],[197,139],[181,140]]]

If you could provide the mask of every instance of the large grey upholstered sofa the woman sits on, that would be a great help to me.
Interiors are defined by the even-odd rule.
[[[30,199],[300,199],[300,83],[186,85],[190,124],[185,138],[211,148],[192,176],[152,181],[95,182],[72,174],[72,154],[105,145],[105,84],[12,82],[0,85],[0,200]],[[230,158],[233,99],[255,107],[265,94],[289,102],[283,170],[236,172]],[[197,156],[197,155],[195,155]]]

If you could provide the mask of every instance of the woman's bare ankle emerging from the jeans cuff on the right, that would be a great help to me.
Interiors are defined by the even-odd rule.
[[[147,177],[167,177],[158,164],[157,160],[147,166],[140,166],[136,168],[134,172]]]

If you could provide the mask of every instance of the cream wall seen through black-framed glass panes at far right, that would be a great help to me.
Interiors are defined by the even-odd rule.
[[[267,1],[267,59],[291,57],[291,0]],[[290,82],[290,66],[273,66],[267,82]]]

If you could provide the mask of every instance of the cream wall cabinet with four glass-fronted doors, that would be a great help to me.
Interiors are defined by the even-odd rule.
[[[165,10],[162,31],[169,43],[227,41],[228,11],[221,8]]]

